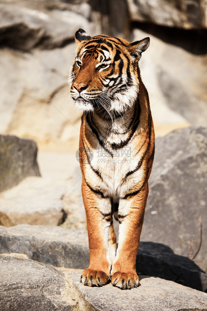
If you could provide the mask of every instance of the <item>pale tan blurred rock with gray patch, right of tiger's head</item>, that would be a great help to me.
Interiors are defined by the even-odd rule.
[[[207,125],[206,56],[193,55],[142,30],[133,33],[133,41],[150,37],[139,65],[155,128]]]

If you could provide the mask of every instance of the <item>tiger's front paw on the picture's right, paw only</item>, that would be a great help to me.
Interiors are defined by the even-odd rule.
[[[113,286],[117,286],[122,290],[128,290],[130,288],[138,287],[139,277],[136,273],[122,273],[117,271],[113,273],[111,283]]]

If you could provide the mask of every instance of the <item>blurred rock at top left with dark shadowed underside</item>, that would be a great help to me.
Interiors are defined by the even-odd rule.
[[[74,39],[80,27],[89,27],[88,20],[68,10],[34,10],[11,4],[0,5],[0,44],[20,50],[35,47],[61,47]]]

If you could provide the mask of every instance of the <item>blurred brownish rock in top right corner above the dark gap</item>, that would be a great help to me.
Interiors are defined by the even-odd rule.
[[[207,28],[205,2],[127,0],[132,21],[183,29]]]

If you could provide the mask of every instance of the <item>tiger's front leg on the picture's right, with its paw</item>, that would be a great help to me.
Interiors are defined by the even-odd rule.
[[[119,246],[112,266],[111,283],[121,289],[139,284],[135,266],[147,196],[146,184],[140,193],[119,200]]]

